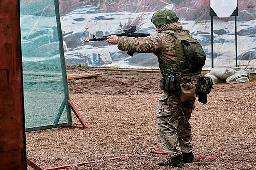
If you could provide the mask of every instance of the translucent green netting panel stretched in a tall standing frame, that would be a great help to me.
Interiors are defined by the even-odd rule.
[[[20,0],[26,129],[71,123],[65,108],[68,92],[57,4],[58,0]]]

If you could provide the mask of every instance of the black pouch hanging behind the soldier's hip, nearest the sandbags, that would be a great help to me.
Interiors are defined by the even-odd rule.
[[[212,88],[213,88],[212,78],[201,76],[199,78],[198,101],[203,104],[206,104],[207,94],[211,92]]]

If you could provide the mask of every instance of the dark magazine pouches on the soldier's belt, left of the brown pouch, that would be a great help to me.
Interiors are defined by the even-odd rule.
[[[170,71],[160,80],[160,88],[165,92],[177,91],[180,89],[180,82],[180,77]]]

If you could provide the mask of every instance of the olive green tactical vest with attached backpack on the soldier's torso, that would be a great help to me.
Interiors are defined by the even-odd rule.
[[[168,30],[163,32],[176,38],[175,51],[178,60],[177,63],[163,63],[159,65],[163,76],[166,76],[170,71],[180,76],[201,73],[206,55],[200,43],[185,31],[175,32]]]

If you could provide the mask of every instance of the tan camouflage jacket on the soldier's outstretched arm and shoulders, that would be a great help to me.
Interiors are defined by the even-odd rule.
[[[180,22],[174,22],[162,26],[158,34],[145,38],[119,37],[118,49],[130,53],[154,53],[158,57],[159,64],[178,62],[174,32],[178,35],[189,34],[189,31],[184,30]]]

